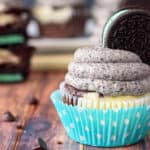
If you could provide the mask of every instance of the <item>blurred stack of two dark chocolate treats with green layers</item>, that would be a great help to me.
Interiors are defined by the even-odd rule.
[[[27,79],[34,48],[27,45],[30,12],[0,5],[0,83]]]

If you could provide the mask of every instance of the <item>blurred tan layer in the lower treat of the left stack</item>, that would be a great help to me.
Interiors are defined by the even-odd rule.
[[[0,64],[19,64],[20,59],[9,50],[0,49]]]

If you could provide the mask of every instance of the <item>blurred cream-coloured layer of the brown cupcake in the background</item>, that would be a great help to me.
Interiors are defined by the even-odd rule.
[[[64,24],[71,19],[73,8],[67,6],[55,9],[50,6],[36,6],[33,10],[33,14],[42,24]]]

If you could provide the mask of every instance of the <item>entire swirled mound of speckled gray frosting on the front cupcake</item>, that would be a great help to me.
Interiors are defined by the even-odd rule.
[[[150,92],[150,67],[134,53],[108,48],[80,48],[68,67],[65,82],[104,96]]]

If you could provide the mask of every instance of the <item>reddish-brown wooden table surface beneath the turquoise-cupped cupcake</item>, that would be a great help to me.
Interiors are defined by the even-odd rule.
[[[0,117],[6,111],[19,117],[23,129],[17,129],[17,121],[0,120],[0,150],[32,150],[37,139],[44,139],[50,150],[102,150],[80,145],[69,139],[57,116],[50,93],[64,79],[64,72],[32,73],[21,84],[0,85]],[[27,97],[33,94],[40,100],[37,106],[29,105]],[[114,148],[115,149],[115,148]],[[140,143],[116,150],[150,150],[150,137]]]

